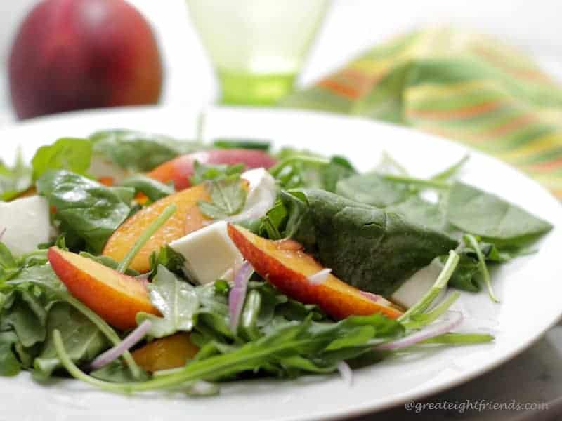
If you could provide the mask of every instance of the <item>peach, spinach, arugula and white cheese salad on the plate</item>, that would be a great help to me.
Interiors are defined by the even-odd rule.
[[[499,302],[488,267],[551,225],[456,180],[467,159],[421,179],[117,130],[0,163],[0,375],[200,396],[490,342],[451,306]]]

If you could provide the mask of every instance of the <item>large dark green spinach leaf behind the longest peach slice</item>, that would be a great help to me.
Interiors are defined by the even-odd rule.
[[[455,249],[450,236],[396,213],[318,189],[282,195],[288,233],[351,285],[390,296],[409,276]]]

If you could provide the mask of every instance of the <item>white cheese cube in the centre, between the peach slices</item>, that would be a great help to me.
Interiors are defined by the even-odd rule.
[[[169,246],[185,258],[188,278],[201,284],[223,276],[232,276],[230,269],[242,263],[242,255],[228,236],[225,221],[214,222],[172,241]]]

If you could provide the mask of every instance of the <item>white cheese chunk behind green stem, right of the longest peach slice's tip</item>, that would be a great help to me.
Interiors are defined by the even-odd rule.
[[[404,307],[412,307],[412,305],[416,304],[429,288],[433,286],[441,269],[443,269],[443,265],[441,265],[439,260],[433,260],[433,262],[419,269],[419,271],[400,285],[400,288],[391,295],[391,300]],[[442,292],[434,302],[439,302],[443,297],[443,293],[444,292]]]

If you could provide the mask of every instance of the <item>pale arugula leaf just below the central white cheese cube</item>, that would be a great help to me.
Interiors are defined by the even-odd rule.
[[[164,266],[159,266],[156,276],[148,284],[150,301],[159,309],[163,317],[147,313],[137,314],[137,323],[145,319],[152,321],[149,334],[162,338],[183,330],[193,328],[193,317],[199,308],[199,299],[195,288],[176,276]]]

